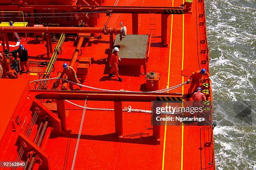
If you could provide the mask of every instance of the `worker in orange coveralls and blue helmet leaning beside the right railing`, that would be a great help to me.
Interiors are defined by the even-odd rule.
[[[187,94],[187,97],[190,96],[190,94],[192,93],[194,87],[198,87],[200,85],[200,80],[202,79],[202,77],[206,75],[208,77],[210,77],[210,74],[205,71],[205,69],[202,69],[202,70],[199,70],[199,71],[196,71],[195,73],[193,73],[189,79],[191,80],[191,83],[190,83],[190,86],[189,86],[189,90],[188,90],[188,94]]]

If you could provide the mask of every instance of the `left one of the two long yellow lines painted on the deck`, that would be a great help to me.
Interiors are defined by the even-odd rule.
[[[173,1],[172,0],[172,7],[173,7]],[[172,15],[172,21],[173,21],[173,15]],[[168,67],[168,82],[167,82],[167,88],[169,87],[170,84],[170,67],[171,67],[171,50],[172,50],[172,21],[171,21],[171,37],[170,37],[170,52],[169,52],[169,67]],[[167,91],[169,93],[169,91]],[[167,118],[167,114],[165,115]],[[163,148],[163,161],[162,161],[162,170],[164,170],[164,155],[165,155],[165,143],[166,143],[166,121],[165,121],[165,126],[164,126],[164,148]]]

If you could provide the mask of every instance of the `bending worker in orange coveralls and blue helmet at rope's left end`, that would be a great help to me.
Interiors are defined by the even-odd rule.
[[[68,76],[67,79],[69,81],[73,81],[75,83],[81,84],[81,82],[77,79],[76,71],[71,66],[68,66],[67,63],[63,64],[63,71],[60,75],[60,78],[62,78],[64,74]],[[82,86],[79,86],[79,87],[82,88]],[[74,90],[73,83],[69,83],[69,89]]]

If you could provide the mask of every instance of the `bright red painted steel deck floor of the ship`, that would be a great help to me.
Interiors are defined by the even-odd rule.
[[[108,0],[104,5],[113,5],[114,0]],[[180,6],[182,0],[152,1],[152,0],[123,0],[118,2],[118,6]],[[192,72],[202,69],[201,61],[198,58],[197,50],[197,2],[192,5],[192,13],[185,15],[170,15],[168,18],[168,42],[169,46],[161,47],[161,38],[156,38],[151,42],[149,63],[147,71],[156,71],[161,74],[161,87],[174,86],[187,81],[188,77],[183,77],[181,71],[184,69]],[[132,23],[130,14],[113,14],[109,27],[119,25],[120,22],[127,27],[128,34],[131,34]],[[139,34],[149,33],[149,16],[139,14]],[[101,27],[108,17],[101,17],[98,26]],[[160,23],[160,15],[156,15],[157,22]],[[156,30],[161,30],[161,25],[156,25]],[[161,31],[156,32],[156,36],[161,36]],[[34,45],[33,39],[28,41],[22,39],[23,45],[28,49],[30,60],[46,60],[46,50],[44,44]],[[108,69],[100,60],[107,58],[105,50],[108,49],[108,36],[98,41],[97,44],[85,44],[82,47],[82,56],[92,57],[97,63],[93,63],[89,69],[87,86],[99,87],[113,90],[140,91],[141,84],[145,83],[145,76],[133,74],[130,70],[134,68],[121,67],[120,76],[123,82],[116,81],[116,77],[108,79]],[[54,47],[54,44],[53,44]],[[35,48],[37,50],[35,50]],[[73,41],[67,41],[62,46],[63,53],[58,56],[55,64],[55,77],[58,71],[62,70],[62,64],[69,62],[74,51]],[[11,48],[10,50],[13,50]],[[75,66],[76,68],[76,66]],[[28,81],[36,79],[37,76],[22,74],[19,79]],[[172,92],[187,94],[189,85],[185,85]],[[84,105],[84,101],[73,101],[76,104]],[[77,134],[82,117],[82,109],[66,104],[69,110],[67,117],[67,129],[72,130],[72,134],[61,137],[51,135],[45,152],[49,153],[51,169],[70,169],[74,156]],[[150,110],[150,103],[143,102],[123,102],[123,107]],[[113,102],[88,101],[87,107],[113,108]],[[151,129],[145,128],[144,113],[123,113],[124,137],[116,139],[114,127],[114,114],[110,111],[87,110],[84,125],[77,152],[74,169],[171,169],[171,170],[200,170],[213,169],[208,162],[212,162],[212,147],[209,150],[200,150],[201,140],[205,142],[205,137],[200,134],[200,126],[161,126],[161,139],[153,142],[147,135],[129,137],[131,134],[146,133],[152,135]],[[205,134],[207,139],[210,134]],[[207,141],[206,141],[207,142]]]

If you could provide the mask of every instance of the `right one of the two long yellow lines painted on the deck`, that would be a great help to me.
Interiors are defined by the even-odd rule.
[[[183,0],[184,4],[184,0]],[[182,15],[182,70],[183,70],[183,63],[184,63],[184,15]],[[182,76],[182,83],[184,83],[184,76]],[[184,94],[184,86],[182,86],[182,94]],[[183,107],[183,100],[182,100],[182,107]],[[180,169],[183,170],[183,140],[184,140],[184,124],[182,122],[182,152],[181,152],[181,167]]]

